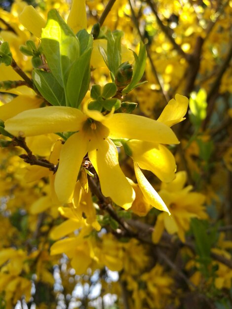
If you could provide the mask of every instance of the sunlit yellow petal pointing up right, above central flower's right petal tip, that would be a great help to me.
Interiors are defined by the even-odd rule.
[[[175,100],[171,99],[165,106],[157,121],[163,122],[168,126],[172,126],[183,121],[189,105],[189,100],[183,95],[176,94]]]

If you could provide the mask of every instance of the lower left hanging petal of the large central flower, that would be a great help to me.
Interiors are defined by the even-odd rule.
[[[61,203],[72,201],[80,165],[87,153],[87,142],[84,135],[78,132],[73,134],[61,149],[55,176],[55,192]]]

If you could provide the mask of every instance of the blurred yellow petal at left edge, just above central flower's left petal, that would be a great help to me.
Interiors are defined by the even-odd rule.
[[[36,109],[42,102],[43,100],[36,96],[20,95],[9,103],[0,106],[0,119],[5,121],[23,111]]]

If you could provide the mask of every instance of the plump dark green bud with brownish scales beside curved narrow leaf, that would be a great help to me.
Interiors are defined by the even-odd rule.
[[[126,61],[123,62],[117,69],[115,83],[118,88],[126,87],[130,82],[133,75],[132,65]]]

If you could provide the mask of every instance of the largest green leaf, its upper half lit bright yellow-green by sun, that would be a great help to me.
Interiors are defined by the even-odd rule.
[[[65,89],[70,69],[79,56],[79,41],[55,9],[48,12],[47,24],[41,38],[48,66]]]

